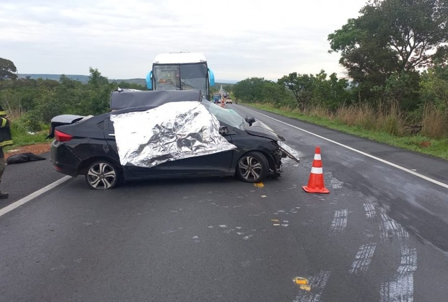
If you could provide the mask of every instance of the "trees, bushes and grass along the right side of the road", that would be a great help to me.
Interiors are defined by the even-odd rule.
[[[347,78],[248,78],[233,95],[257,108],[448,159],[448,3],[373,1],[328,35]]]

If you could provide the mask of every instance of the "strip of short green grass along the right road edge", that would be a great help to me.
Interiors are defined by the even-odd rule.
[[[345,132],[363,138],[368,138],[388,145],[448,160],[448,138],[433,139],[421,135],[396,136],[385,132],[378,132],[378,131],[366,130],[360,127],[349,126],[342,123],[341,121],[329,119],[327,117],[309,116],[304,115],[302,113],[298,113],[296,111],[287,111],[278,109],[269,104],[245,103],[244,105],[277,113],[283,116],[296,118],[317,125],[322,125],[330,129],[338,130],[341,132]],[[427,147],[422,146],[421,143],[423,142],[430,142],[431,145]]]

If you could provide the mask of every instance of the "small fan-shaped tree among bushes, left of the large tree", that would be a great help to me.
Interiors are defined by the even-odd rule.
[[[312,74],[299,74],[292,72],[278,79],[278,84],[285,85],[292,91],[297,100],[297,104],[301,111],[305,110],[305,106],[311,103],[313,97],[314,76]]]

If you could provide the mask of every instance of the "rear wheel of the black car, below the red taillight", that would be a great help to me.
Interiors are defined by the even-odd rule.
[[[99,160],[89,165],[86,171],[86,182],[91,189],[107,190],[114,188],[121,180],[121,171],[116,165]]]

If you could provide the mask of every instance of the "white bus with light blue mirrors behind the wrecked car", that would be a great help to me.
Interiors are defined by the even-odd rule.
[[[161,54],[154,59],[146,85],[149,90],[201,90],[210,100],[215,75],[201,53]]]

